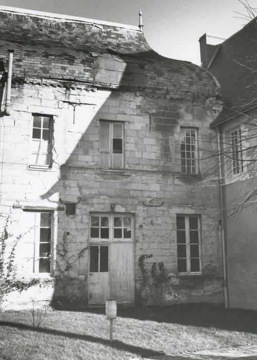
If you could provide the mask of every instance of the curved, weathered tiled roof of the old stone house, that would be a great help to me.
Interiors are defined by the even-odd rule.
[[[13,49],[17,76],[216,93],[207,71],[157,54],[133,26],[0,7],[0,29],[2,66],[6,69],[7,49]]]

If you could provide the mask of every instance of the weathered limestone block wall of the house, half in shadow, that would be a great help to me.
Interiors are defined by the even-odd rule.
[[[87,303],[90,213],[115,211],[134,216],[135,301],[223,301],[219,193],[208,186],[210,176],[216,176],[215,158],[209,156],[216,151],[215,133],[209,123],[218,103],[204,95],[167,91],[110,90],[85,84],[68,89],[50,80],[35,84],[27,79],[12,88],[11,115],[0,122],[1,213],[11,219],[9,246],[26,228],[24,210],[54,213],[51,261],[57,278],[45,293],[34,292],[36,299],[67,296]],[[74,108],[74,104],[80,105]],[[29,167],[33,114],[53,118],[49,169]],[[103,119],[124,124],[123,171],[100,168]],[[199,174],[181,173],[181,127],[198,129]],[[66,214],[60,199],[80,199],[74,215]],[[177,273],[177,214],[201,218],[201,274]],[[67,256],[75,259],[69,271],[60,256],[64,237]],[[82,256],[76,258],[82,249]],[[149,276],[153,263],[163,263],[168,281],[162,289],[143,283],[142,255],[151,255],[145,260]],[[69,285],[60,283],[60,274],[65,281],[69,278]],[[11,301],[15,303],[17,297]]]

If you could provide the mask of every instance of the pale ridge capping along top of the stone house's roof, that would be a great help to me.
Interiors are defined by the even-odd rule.
[[[99,25],[109,25],[109,26],[121,27],[124,29],[139,31],[141,33],[143,32],[139,29],[138,26],[119,24],[119,23],[113,23],[113,22],[102,21],[102,20],[88,19],[86,17],[80,17],[80,16],[57,14],[57,13],[53,13],[53,12],[22,9],[22,8],[15,8],[15,7],[11,7],[11,6],[3,6],[3,5],[0,5],[0,11],[20,14],[20,15],[32,15],[35,17],[43,17],[45,19],[50,17],[55,20],[60,20],[61,22],[62,21],[72,21],[72,22],[76,21],[76,22],[89,23],[89,24],[93,23],[93,24],[99,24]]]

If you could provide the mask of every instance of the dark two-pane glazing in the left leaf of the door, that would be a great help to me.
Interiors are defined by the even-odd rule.
[[[106,245],[90,246],[90,273],[108,273],[109,247]]]

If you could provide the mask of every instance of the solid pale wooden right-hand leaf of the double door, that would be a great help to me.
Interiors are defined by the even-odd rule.
[[[117,303],[134,302],[132,243],[110,245],[110,295]]]

